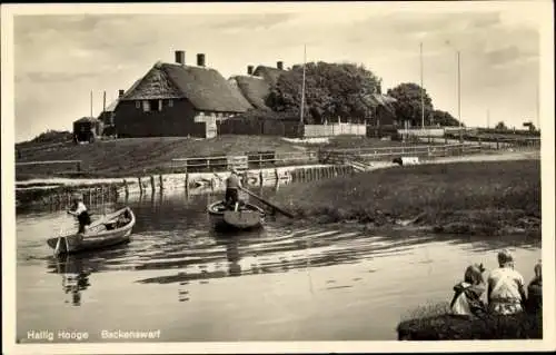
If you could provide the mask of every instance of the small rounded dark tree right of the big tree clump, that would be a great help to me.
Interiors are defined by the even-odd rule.
[[[414,82],[403,82],[388,89],[387,95],[397,100],[393,106],[398,120],[409,120],[411,126],[421,126],[421,90],[424,91],[425,118],[427,118],[433,114],[433,100],[427,90]]]

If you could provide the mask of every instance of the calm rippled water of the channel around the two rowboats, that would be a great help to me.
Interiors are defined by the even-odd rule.
[[[469,263],[494,268],[509,247],[528,282],[540,258],[540,243],[526,237],[374,235],[280,218],[219,235],[205,213],[217,198],[128,200],[137,216],[130,244],[62,259],[46,239],[76,228],[70,216],[18,215],[18,339],[76,331],[106,342],[101,332],[118,329],[160,329],[159,342],[396,339],[401,317],[450,299]]]

